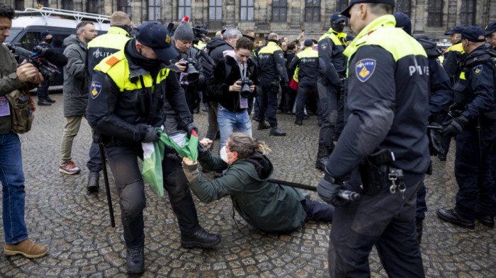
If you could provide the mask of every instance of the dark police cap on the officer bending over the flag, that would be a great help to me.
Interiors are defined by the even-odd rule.
[[[167,28],[158,22],[143,23],[136,28],[136,40],[152,48],[160,60],[168,62],[179,56],[179,53],[171,48],[171,37]]]

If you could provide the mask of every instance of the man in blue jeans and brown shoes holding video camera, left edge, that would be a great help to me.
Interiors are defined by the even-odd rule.
[[[9,37],[14,10],[0,2],[0,181],[4,195],[3,222],[5,237],[5,255],[23,255],[24,257],[43,257],[47,248],[28,239],[28,230],[24,222],[23,159],[21,140],[11,131],[12,106],[6,94],[16,89],[33,89],[43,76],[38,69],[26,61],[17,65],[16,59],[4,45]]]

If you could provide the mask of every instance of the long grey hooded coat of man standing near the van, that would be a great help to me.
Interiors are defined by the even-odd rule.
[[[64,39],[64,55],[67,65],[64,67],[64,117],[86,114],[88,105],[89,76],[84,69],[86,61],[86,44],[76,35]]]

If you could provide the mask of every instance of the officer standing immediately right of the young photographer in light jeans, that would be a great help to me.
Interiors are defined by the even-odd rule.
[[[270,33],[267,37],[268,43],[258,52],[258,62],[260,68],[261,94],[257,96],[259,110],[257,121],[258,129],[266,128],[265,118],[271,126],[270,135],[286,136],[286,132],[277,128],[277,94],[279,91],[279,80],[288,87],[289,79],[286,72],[286,60],[284,60],[283,50],[279,47],[279,36]]]

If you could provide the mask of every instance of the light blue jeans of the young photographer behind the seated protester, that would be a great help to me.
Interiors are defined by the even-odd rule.
[[[225,146],[227,138],[235,130],[252,137],[252,121],[249,120],[247,109],[243,109],[239,112],[231,112],[219,104],[217,109],[217,121],[219,123],[220,131],[220,148]]]

